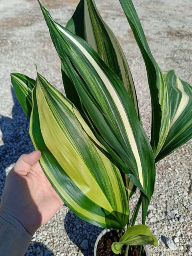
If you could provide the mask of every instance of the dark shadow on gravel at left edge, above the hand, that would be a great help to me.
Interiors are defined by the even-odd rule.
[[[24,114],[13,88],[11,88],[11,92],[14,101],[12,118],[0,116],[0,130],[4,142],[0,146],[0,196],[4,188],[7,168],[14,164],[21,154],[34,150],[28,134],[29,120]]]

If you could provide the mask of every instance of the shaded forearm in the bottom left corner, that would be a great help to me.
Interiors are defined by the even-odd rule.
[[[31,239],[18,220],[0,210],[0,255],[23,256]]]

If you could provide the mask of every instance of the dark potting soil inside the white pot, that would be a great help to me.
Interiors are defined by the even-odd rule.
[[[97,256],[124,256],[126,246],[122,247],[121,254],[114,254],[111,250],[113,242],[119,242],[120,235],[118,230],[112,230],[102,236],[97,245]],[[139,246],[132,246],[132,250],[129,249],[128,256],[138,256]],[[144,248],[142,248],[141,256],[146,256]]]

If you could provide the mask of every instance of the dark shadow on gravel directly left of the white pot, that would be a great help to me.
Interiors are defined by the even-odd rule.
[[[93,256],[94,243],[103,229],[81,220],[70,210],[66,214],[64,226],[70,240],[80,248],[83,255]]]

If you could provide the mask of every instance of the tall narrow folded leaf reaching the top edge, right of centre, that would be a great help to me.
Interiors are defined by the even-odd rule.
[[[164,75],[156,63],[146,37],[144,35],[140,20],[131,0],[119,0],[126,14],[136,42],[140,48],[146,65],[148,83],[152,102],[152,131],[151,145],[154,156],[160,152],[166,140],[170,125],[170,98],[168,86]]]

